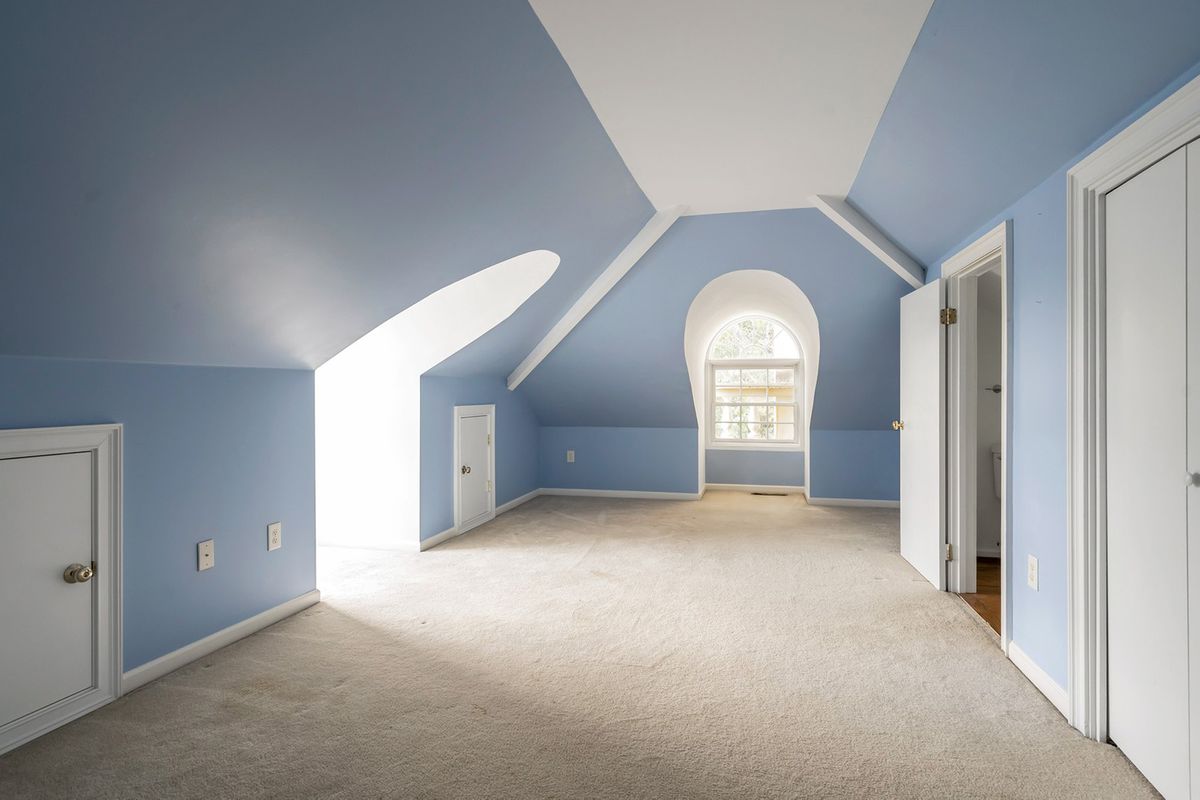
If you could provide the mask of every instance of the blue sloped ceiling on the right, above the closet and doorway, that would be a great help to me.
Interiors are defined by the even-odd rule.
[[[1198,60],[1198,0],[937,0],[850,201],[934,264]]]

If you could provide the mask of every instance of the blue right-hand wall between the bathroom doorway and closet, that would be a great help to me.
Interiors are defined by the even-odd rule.
[[[1012,403],[1009,456],[1009,632],[1061,686],[1067,685],[1067,172],[1129,122],[1200,74],[1193,66],[1046,178],[1037,188],[978,225],[930,266],[994,228],[1013,223]],[[1038,590],[1024,575],[1038,558]]]

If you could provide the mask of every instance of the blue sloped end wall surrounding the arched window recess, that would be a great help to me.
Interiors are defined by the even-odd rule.
[[[688,308],[713,278],[773,270],[821,326],[814,429],[887,429],[912,288],[815,209],[682,217],[517,389],[545,426],[695,427]]]

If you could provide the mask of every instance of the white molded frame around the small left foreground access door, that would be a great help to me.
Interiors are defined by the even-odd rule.
[[[0,458],[90,453],[96,553],[95,681],[91,688],[0,726],[0,753],[110,703],[120,694],[121,639],[121,426],[0,431]],[[64,565],[65,567],[66,565]]]

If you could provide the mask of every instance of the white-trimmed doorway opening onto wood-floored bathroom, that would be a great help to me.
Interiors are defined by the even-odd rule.
[[[1007,223],[943,265],[947,342],[947,584],[1007,642]]]

